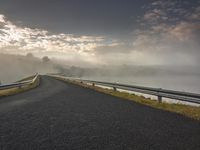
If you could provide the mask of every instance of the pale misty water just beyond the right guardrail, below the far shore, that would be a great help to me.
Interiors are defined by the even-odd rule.
[[[200,76],[129,76],[129,77],[83,77],[85,79],[117,82],[129,85],[163,88],[177,91],[200,93]]]

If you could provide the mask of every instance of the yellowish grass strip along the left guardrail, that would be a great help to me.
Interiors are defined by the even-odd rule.
[[[30,77],[24,78],[24,79],[22,79],[22,80],[20,80],[18,82],[31,80],[32,78],[34,78],[34,76],[30,76]],[[30,89],[33,89],[33,88],[35,88],[35,87],[37,87],[39,85],[39,83],[40,83],[39,80],[40,79],[36,80],[35,83],[30,84],[30,85],[24,85],[24,86],[21,86],[21,87],[15,87],[15,88],[9,88],[9,89],[0,90],[0,97],[15,95],[15,94],[18,94],[18,93],[25,92],[25,91],[28,91]]]

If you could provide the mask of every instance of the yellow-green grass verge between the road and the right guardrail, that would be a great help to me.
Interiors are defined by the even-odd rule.
[[[61,79],[58,77],[56,77],[56,78],[59,80],[63,80],[65,82],[80,85],[85,88],[90,88],[90,89],[93,89],[98,92],[102,92],[102,93],[109,94],[112,96],[120,97],[124,100],[131,100],[131,101],[134,101],[134,102],[137,102],[140,104],[144,104],[144,105],[147,105],[147,106],[150,106],[153,108],[162,109],[162,110],[166,110],[166,111],[170,111],[170,112],[175,112],[175,113],[184,115],[186,117],[200,121],[200,107],[184,105],[184,104],[170,104],[170,103],[165,103],[165,102],[158,103],[157,100],[145,98],[143,96],[138,96],[138,95],[130,94],[127,92],[114,91],[112,89],[106,89],[106,88],[101,88],[101,87],[97,87],[97,86],[92,86],[92,85],[80,83],[77,81],[65,80],[65,79]]]

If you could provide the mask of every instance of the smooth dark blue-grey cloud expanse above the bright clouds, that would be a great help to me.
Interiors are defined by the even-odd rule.
[[[140,7],[149,0],[1,0],[0,13],[11,21],[72,34],[128,33]]]

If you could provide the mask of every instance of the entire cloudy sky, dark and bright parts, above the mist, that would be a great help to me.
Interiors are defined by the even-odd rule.
[[[79,65],[196,66],[200,1],[0,0],[0,53]]]

